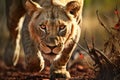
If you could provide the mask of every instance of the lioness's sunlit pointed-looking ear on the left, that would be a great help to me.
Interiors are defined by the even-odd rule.
[[[41,9],[40,5],[32,0],[26,1],[25,8],[29,15],[32,15],[36,10]]]

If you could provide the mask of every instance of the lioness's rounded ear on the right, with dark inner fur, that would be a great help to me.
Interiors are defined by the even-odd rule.
[[[66,5],[66,11],[75,17],[79,14],[81,4],[78,1],[71,1]]]

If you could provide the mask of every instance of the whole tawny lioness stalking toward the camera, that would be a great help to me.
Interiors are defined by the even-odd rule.
[[[6,64],[16,65],[21,32],[28,71],[43,70],[47,59],[51,63],[51,79],[70,78],[66,65],[76,47],[72,40],[78,42],[80,38],[83,0],[7,0],[6,3],[10,31]],[[20,31],[16,28],[23,15]]]

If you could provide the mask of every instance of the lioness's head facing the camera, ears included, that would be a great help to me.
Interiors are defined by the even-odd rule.
[[[32,39],[45,55],[55,56],[68,46],[70,38],[79,35],[82,5],[77,1],[70,1],[65,6],[50,3],[43,3],[41,7],[27,0],[26,9],[31,16],[29,32]]]

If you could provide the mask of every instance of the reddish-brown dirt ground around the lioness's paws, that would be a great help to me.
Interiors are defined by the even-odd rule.
[[[7,67],[2,60],[0,60],[0,64],[0,80],[49,80],[49,66],[45,67],[41,73],[30,73],[25,72],[21,68],[21,65]],[[71,74],[69,80],[95,80],[94,72],[87,68],[87,66],[74,64],[74,66],[68,70]]]

